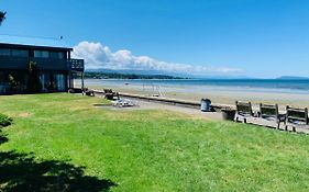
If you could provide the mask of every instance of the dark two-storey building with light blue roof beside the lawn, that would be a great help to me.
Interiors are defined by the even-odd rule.
[[[71,58],[73,48],[57,44],[59,41],[42,45],[37,41],[20,42],[0,38],[0,94],[27,92],[30,64],[36,66],[38,92],[67,91],[74,88],[75,76],[84,76],[84,60]]]

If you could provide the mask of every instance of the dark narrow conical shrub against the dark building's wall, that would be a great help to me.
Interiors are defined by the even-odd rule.
[[[29,93],[37,93],[42,90],[40,72],[37,69],[37,65],[34,61],[29,63],[29,79],[26,89]]]

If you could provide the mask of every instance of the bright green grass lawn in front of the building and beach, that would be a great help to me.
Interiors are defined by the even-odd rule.
[[[104,102],[0,97],[0,191],[309,190],[307,135]]]

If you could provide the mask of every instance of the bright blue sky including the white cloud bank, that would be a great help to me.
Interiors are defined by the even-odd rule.
[[[63,35],[89,68],[309,77],[308,0],[0,0],[0,34]]]

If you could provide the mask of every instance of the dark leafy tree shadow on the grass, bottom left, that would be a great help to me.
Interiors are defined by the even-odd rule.
[[[8,142],[0,128],[0,145]],[[0,151],[0,191],[109,191],[117,184],[85,176],[84,167],[57,160],[37,161],[33,154]]]

